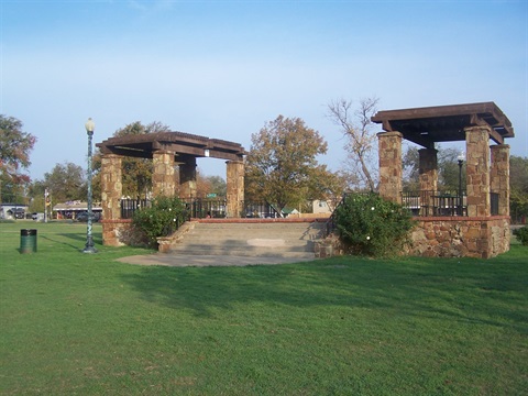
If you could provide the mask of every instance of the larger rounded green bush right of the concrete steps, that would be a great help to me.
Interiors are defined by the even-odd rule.
[[[336,209],[336,228],[356,255],[400,254],[414,228],[411,213],[376,194],[350,194]]]

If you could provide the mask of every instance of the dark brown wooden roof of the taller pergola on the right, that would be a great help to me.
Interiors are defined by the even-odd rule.
[[[465,140],[466,127],[490,125],[490,139],[498,144],[515,136],[512,122],[494,102],[384,110],[371,120],[384,131],[398,131],[404,139],[429,148],[436,142]]]

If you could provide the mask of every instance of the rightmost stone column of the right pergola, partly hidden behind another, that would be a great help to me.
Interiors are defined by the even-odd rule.
[[[492,193],[498,194],[498,215],[509,216],[509,145],[492,145]]]

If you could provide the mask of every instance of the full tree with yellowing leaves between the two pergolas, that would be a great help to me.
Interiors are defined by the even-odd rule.
[[[245,185],[250,200],[297,207],[307,199],[324,199],[337,176],[316,156],[327,152],[327,142],[299,118],[278,116],[251,136]]]

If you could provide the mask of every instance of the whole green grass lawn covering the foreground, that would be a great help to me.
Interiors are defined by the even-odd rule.
[[[38,251],[20,254],[20,229]],[[520,395],[528,248],[492,260],[142,267],[0,223],[1,395]]]

